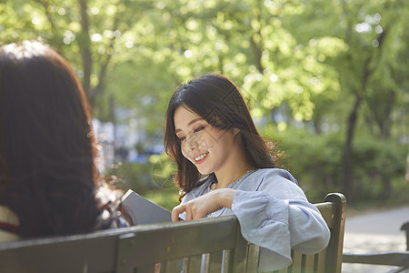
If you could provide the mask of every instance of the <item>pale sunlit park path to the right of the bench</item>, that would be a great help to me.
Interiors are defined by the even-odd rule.
[[[346,217],[344,252],[379,253],[406,250],[406,236],[401,227],[409,221],[409,206]],[[343,264],[343,273],[384,273],[387,266]]]

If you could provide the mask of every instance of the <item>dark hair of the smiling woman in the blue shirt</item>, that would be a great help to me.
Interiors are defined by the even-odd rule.
[[[205,75],[176,89],[165,116],[165,151],[177,167],[175,184],[185,193],[198,186],[196,182],[200,180],[201,174],[182,155],[180,142],[175,134],[175,110],[180,106],[192,110],[218,129],[239,129],[249,162],[256,168],[276,167],[278,154],[274,151],[274,142],[258,133],[237,86],[225,76]],[[214,174],[200,182],[204,183],[210,177],[214,177]]]

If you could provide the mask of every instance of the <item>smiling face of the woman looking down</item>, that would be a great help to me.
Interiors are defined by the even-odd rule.
[[[179,106],[175,111],[175,133],[180,140],[182,154],[202,175],[223,170],[225,162],[232,160],[234,133],[209,125],[195,112]]]

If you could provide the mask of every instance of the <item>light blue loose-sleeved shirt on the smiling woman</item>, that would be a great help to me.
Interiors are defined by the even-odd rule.
[[[209,179],[195,187],[186,194],[182,204],[210,192],[212,183]],[[238,218],[243,237],[261,247],[260,271],[289,266],[292,248],[314,254],[328,245],[330,231],[324,218],[284,169],[249,171],[228,187],[236,189],[232,209],[224,207],[207,217],[235,215]]]

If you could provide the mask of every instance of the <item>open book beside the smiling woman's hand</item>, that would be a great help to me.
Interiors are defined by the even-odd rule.
[[[172,213],[141,197],[129,189],[122,197],[126,213],[132,218],[134,225],[157,224],[172,221]]]

